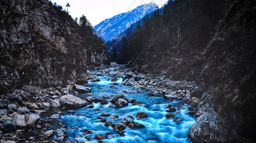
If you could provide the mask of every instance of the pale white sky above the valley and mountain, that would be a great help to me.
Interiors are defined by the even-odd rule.
[[[117,14],[133,10],[139,6],[143,0],[51,0],[66,9],[69,3],[69,14],[75,18],[84,14],[87,16],[92,25],[96,25],[106,18],[111,18]],[[140,5],[151,3],[153,0],[144,0]]]

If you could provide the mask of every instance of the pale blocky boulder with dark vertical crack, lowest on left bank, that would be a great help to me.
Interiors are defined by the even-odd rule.
[[[30,115],[14,115],[12,118],[12,122],[15,126],[27,126],[27,125],[33,125],[36,120],[40,119],[40,116],[37,114],[30,114]]]

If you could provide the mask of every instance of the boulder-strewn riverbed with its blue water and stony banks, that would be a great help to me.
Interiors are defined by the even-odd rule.
[[[117,64],[88,73],[89,83],[1,95],[1,142],[190,142],[194,82]]]

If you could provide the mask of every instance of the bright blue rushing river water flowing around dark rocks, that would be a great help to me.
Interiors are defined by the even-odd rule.
[[[68,128],[69,140],[98,142],[94,139],[94,136],[101,134],[107,138],[103,140],[104,142],[191,142],[187,138],[187,132],[196,119],[188,115],[187,108],[189,105],[183,101],[165,100],[163,97],[149,96],[145,92],[138,93],[136,89],[122,85],[122,78],[118,78],[115,82],[112,82],[111,77],[107,75],[96,76],[96,78],[99,78],[100,81],[89,82],[89,84],[94,85],[91,87],[91,93],[94,94],[93,97],[108,97],[109,104],[93,103],[94,108],[83,107],[75,110],[74,113],[65,112],[60,118],[60,123]],[[113,83],[117,85],[113,85]],[[135,94],[126,94],[122,90],[132,90]],[[128,106],[122,108],[110,108],[110,100],[118,93],[143,104],[132,105],[129,103]],[[88,95],[80,94],[79,97],[86,98]],[[168,104],[177,108],[177,111],[173,112],[176,115],[174,119],[166,119],[165,117],[169,113],[165,108]],[[97,119],[103,112],[111,115],[111,117],[104,117],[104,119],[111,121],[112,124],[121,123],[125,116],[133,116],[135,122],[143,124],[145,128],[131,129],[126,127],[121,133],[117,132],[111,126],[104,126],[104,123]],[[145,112],[148,118],[136,118],[137,112]],[[119,116],[119,118],[113,119],[113,116]],[[177,119],[180,122],[177,122]],[[84,130],[92,130],[93,132],[91,134],[84,133]],[[91,138],[91,141],[88,138]]]

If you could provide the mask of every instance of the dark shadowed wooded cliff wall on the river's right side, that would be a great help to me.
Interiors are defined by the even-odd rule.
[[[171,2],[163,15],[186,2]],[[122,61],[206,88],[194,94],[201,102],[193,142],[255,141],[255,7],[252,0],[192,0],[123,41]]]

